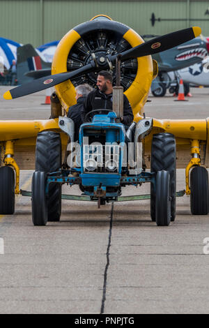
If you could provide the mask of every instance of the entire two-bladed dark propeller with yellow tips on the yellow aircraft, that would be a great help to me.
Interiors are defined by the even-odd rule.
[[[189,27],[188,29],[182,29],[176,32],[168,33],[164,36],[157,36],[157,38],[153,38],[152,40],[148,40],[145,43],[141,43],[141,45],[137,45],[136,47],[132,47],[129,50],[121,52],[121,61],[125,61],[131,58],[144,57],[149,54],[157,54],[157,52],[169,50],[172,47],[176,47],[177,45],[191,40],[192,38],[196,38],[196,36],[199,36],[200,34],[200,27]],[[65,82],[68,79],[72,79],[72,77],[77,75],[83,75],[92,71],[95,72],[108,69],[111,66],[110,63],[114,63],[116,61],[116,57],[116,54],[114,56],[107,55],[104,57],[104,55],[102,55],[99,57],[94,57],[94,60],[91,61],[90,64],[87,64],[86,66],[83,66],[77,70],[73,70],[72,72],[64,72],[41,77],[38,80],[29,82],[27,84],[22,84],[19,87],[11,89],[10,91],[6,91],[6,93],[3,94],[3,98],[19,98],[28,94],[33,94],[37,91],[54,87],[54,85]]]

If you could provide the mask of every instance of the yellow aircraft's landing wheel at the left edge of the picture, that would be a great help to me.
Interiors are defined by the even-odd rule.
[[[15,212],[15,172],[10,166],[0,167],[0,214]]]

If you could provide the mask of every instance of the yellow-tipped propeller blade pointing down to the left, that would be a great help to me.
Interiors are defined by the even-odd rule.
[[[95,64],[93,61],[91,61],[90,64],[83,66],[77,70],[73,70],[73,72],[64,72],[54,75],[48,75],[45,77],[41,77],[38,80],[34,80],[29,83],[22,84],[19,87],[11,89],[10,91],[6,91],[5,94],[3,94],[3,98],[15,99],[22,96],[26,96],[28,94],[33,94],[34,92],[54,87],[54,85],[62,83],[77,75],[82,75],[84,73],[91,72],[91,70],[94,69],[95,69]]]

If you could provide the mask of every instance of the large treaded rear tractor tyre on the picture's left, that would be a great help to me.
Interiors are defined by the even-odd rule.
[[[56,172],[61,168],[61,137],[53,131],[38,133],[36,140],[36,171]],[[59,221],[61,216],[61,184],[49,186],[47,221]]]

